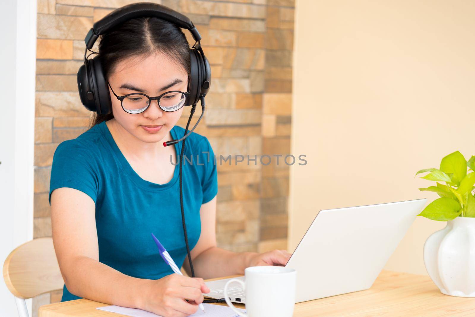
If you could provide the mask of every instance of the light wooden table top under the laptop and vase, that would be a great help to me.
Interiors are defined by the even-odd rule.
[[[216,279],[215,279],[216,280]],[[215,305],[226,305],[220,303]],[[119,317],[97,307],[109,304],[76,299],[43,305],[39,317]],[[244,308],[244,304],[235,304]],[[371,289],[295,304],[295,317],[314,316],[475,316],[475,298],[440,293],[428,276],[381,271]]]

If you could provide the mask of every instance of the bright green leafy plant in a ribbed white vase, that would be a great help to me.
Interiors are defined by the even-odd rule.
[[[468,171],[467,171],[468,169]],[[475,297],[475,156],[468,161],[459,151],[442,158],[440,168],[419,170],[436,186],[419,188],[437,193],[418,216],[447,221],[424,244],[424,264],[443,294]]]

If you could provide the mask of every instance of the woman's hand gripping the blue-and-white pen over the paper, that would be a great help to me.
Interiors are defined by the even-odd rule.
[[[145,280],[142,309],[164,317],[185,317],[196,313],[209,288],[201,278],[170,274],[159,280]],[[185,299],[191,299],[187,302]]]

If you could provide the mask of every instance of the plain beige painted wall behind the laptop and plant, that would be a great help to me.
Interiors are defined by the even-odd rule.
[[[475,2],[297,0],[289,250],[326,208],[437,196],[414,178],[475,154]],[[386,269],[427,274],[417,217]],[[355,224],[358,225],[358,224]]]

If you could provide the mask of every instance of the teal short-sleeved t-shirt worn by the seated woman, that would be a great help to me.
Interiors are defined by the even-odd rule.
[[[173,139],[185,129],[174,126]],[[176,143],[177,157],[182,142]],[[186,139],[183,164],[183,207],[190,250],[201,233],[199,209],[218,192],[213,150],[206,137],[192,132]],[[173,161],[176,164],[176,160]],[[73,140],[61,142],[53,156],[51,193],[76,188],[95,202],[99,261],[142,279],[173,273],[158,253],[153,233],[180,267],[187,255],[180,210],[179,164],[166,184],[144,180],[130,166],[105,121]],[[81,270],[81,268],[75,268]],[[63,287],[61,301],[79,299]]]

